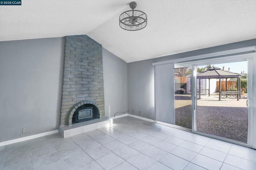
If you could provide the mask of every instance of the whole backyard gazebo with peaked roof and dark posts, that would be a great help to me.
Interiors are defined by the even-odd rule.
[[[239,100],[239,98],[241,99],[241,76],[240,74],[236,74],[230,71],[226,71],[226,70],[222,70],[221,68],[218,67],[212,67],[209,68],[206,71],[203,71],[201,73],[198,73],[196,75],[196,78],[199,79],[199,99],[201,98],[201,79],[208,79],[209,80],[209,92],[208,95],[210,96],[210,79],[212,78],[218,78],[219,79],[219,101],[220,101],[220,97],[221,97],[221,79],[222,78],[226,78],[226,92],[224,92],[223,94],[237,94],[237,100]],[[228,86],[227,86],[227,79],[228,78],[237,78],[237,91],[236,92],[227,92],[228,91]],[[239,96],[239,98],[238,98]]]

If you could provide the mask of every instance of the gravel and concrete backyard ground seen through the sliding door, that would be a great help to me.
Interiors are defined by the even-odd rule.
[[[246,96],[222,99],[218,95],[201,96],[197,100],[197,131],[247,143],[248,117]],[[192,128],[190,95],[175,95],[175,124]]]

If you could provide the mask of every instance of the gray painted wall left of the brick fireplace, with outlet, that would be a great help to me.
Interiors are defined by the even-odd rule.
[[[0,42],[0,142],[58,129],[64,43],[64,38]]]

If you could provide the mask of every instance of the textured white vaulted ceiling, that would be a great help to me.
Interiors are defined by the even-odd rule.
[[[140,31],[119,27],[132,0],[22,0],[0,6],[0,41],[86,34],[126,62],[256,38],[256,0],[136,0]]]

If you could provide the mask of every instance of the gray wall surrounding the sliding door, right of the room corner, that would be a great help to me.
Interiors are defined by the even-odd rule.
[[[171,59],[178,59],[190,57],[195,55],[202,55],[207,53],[214,53],[218,51],[225,51],[231,49],[238,49],[256,45],[256,39],[248,41],[241,41],[207,49],[200,49],[176,55],[169,55],[166,57],[159,57],[155,59],[148,59],[144,61],[137,61],[128,63],[128,109],[134,109],[134,115],[154,119],[154,66],[152,63],[160,61],[168,61]],[[157,50],[157,49],[156,49]],[[254,123],[254,134],[256,132],[256,59],[253,59],[253,95],[254,103],[252,104]],[[152,82],[153,81],[153,82]],[[138,112],[142,111],[140,115]],[[132,114],[132,113],[131,113]],[[256,135],[254,135],[254,148],[256,148]]]

